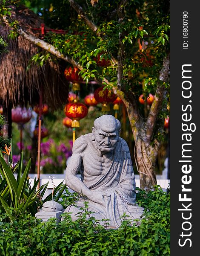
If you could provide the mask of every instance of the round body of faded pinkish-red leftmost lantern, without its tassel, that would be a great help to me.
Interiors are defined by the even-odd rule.
[[[16,122],[17,124],[23,125],[26,122],[29,122],[31,117],[32,117],[32,112],[30,109],[17,107],[11,110],[12,121]]]

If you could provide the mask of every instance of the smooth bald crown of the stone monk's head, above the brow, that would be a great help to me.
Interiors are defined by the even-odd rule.
[[[120,121],[112,115],[103,115],[94,120],[94,128],[108,133],[120,132],[120,127]]]

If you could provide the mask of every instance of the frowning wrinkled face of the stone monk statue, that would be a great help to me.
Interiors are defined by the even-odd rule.
[[[109,153],[116,147],[119,140],[119,132],[116,129],[112,132],[106,132],[101,129],[92,128],[97,148],[103,153]]]

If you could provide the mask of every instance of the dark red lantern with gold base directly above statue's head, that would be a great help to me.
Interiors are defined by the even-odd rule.
[[[105,89],[103,90],[103,86],[97,88],[94,91],[94,98],[97,102],[102,103],[101,111],[110,111],[109,103],[113,103],[115,99],[117,99],[117,95],[114,94],[111,90]]]

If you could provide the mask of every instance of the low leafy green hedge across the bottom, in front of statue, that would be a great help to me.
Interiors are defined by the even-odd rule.
[[[12,223],[0,224],[2,256],[164,256],[170,255],[170,193],[159,186],[149,193],[139,189],[137,202],[146,209],[141,224],[123,216],[120,228],[105,229],[82,212],[72,222],[66,215],[56,224],[41,222],[28,213]]]

